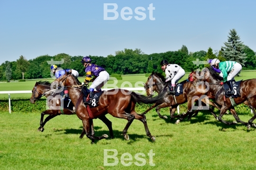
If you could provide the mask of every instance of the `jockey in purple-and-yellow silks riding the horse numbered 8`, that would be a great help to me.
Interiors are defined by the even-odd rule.
[[[96,64],[91,64],[91,59],[88,56],[83,57],[81,63],[85,67],[86,72],[86,78],[82,82],[82,85],[88,84],[90,81],[93,82],[90,86],[90,99],[86,102],[91,105],[94,89],[101,91],[101,87],[107,83],[110,79],[110,75],[105,68],[97,66]],[[91,76],[94,77],[91,79]]]

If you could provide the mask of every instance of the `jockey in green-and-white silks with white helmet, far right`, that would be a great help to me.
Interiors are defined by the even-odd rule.
[[[211,65],[214,68],[219,68],[221,73],[223,74],[223,82],[227,82],[227,84],[229,85],[229,91],[227,92],[227,94],[235,94],[232,79],[242,70],[241,64],[236,61],[220,62],[219,59],[212,59]]]

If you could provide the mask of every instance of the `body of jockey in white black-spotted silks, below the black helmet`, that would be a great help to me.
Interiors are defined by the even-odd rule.
[[[166,80],[165,82],[172,83],[171,94],[175,94],[175,83],[178,82],[184,75],[185,70],[177,64],[168,64],[165,69]]]

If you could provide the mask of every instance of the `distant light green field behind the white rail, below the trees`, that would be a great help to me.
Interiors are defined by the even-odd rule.
[[[256,78],[256,72],[241,72],[240,76],[236,77],[236,80],[241,79],[250,79]],[[189,74],[183,76],[182,80],[185,80]],[[103,88],[116,88],[116,87],[143,87],[142,82],[146,83],[146,76],[122,76],[122,80],[109,80],[108,83]],[[79,78],[79,81],[82,82],[84,78]],[[23,91],[23,90],[32,90],[36,82],[39,80],[30,80],[26,82],[15,82],[15,83],[0,83],[0,91]],[[47,79],[47,81],[52,82],[54,79]],[[136,85],[137,82],[141,82]],[[12,99],[16,98],[30,98],[32,93],[23,93],[23,94],[10,94]],[[0,94],[0,99],[8,99],[8,94]]]

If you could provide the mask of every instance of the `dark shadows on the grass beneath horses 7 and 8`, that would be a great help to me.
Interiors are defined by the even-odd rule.
[[[103,134],[107,134],[109,137],[106,138],[106,140],[111,140],[110,138],[110,132],[109,130],[101,130],[102,127],[99,126],[94,126],[94,136],[102,136]],[[70,128],[70,129],[61,129],[61,130],[54,130],[54,132],[63,132],[64,134],[77,134],[80,135],[82,133],[82,126],[79,129],[74,129],[74,128]],[[125,141],[123,135],[122,135],[122,131],[119,130],[113,130],[113,134],[114,134],[114,139],[122,139]],[[59,133],[59,135],[61,135]],[[128,140],[128,144],[132,144],[140,139],[146,138],[149,142],[152,142],[152,140],[145,135],[139,135],[139,134],[127,134],[129,136],[129,140]],[[159,136],[170,136],[172,137],[173,135],[157,135],[156,137]],[[83,136],[83,138],[87,138],[86,136]],[[104,140],[104,139],[103,139]],[[99,140],[95,140],[95,144],[99,142]]]

